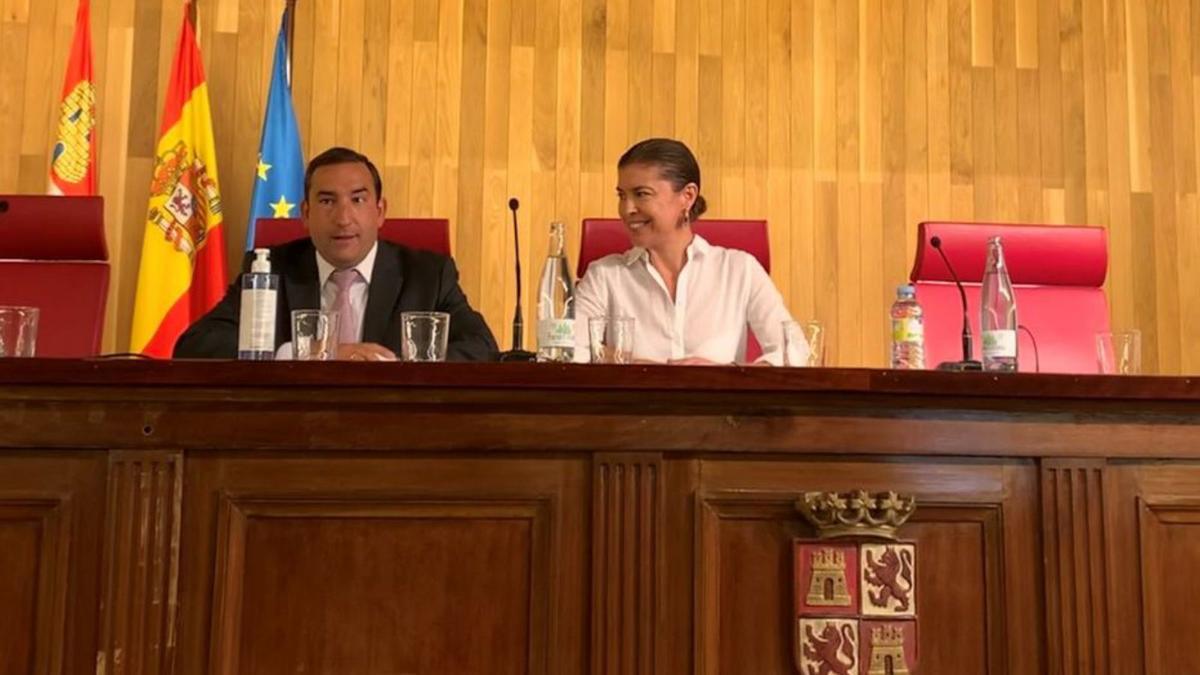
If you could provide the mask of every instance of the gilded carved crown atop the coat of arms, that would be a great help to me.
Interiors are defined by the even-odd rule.
[[[817,528],[817,537],[878,537],[895,539],[896,530],[917,509],[912,495],[895,492],[805,492],[796,508]]]

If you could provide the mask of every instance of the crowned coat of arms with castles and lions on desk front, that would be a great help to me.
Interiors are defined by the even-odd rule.
[[[917,674],[917,546],[896,539],[916,500],[895,492],[808,492],[817,530],[796,539],[800,675]]]

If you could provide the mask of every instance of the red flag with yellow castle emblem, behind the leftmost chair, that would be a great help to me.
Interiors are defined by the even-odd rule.
[[[59,138],[50,156],[50,195],[96,193],[96,80],[91,74],[90,14],[89,0],[79,0],[59,104]]]

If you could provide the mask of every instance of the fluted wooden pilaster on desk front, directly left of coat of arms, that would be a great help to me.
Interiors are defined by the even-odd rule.
[[[662,456],[593,465],[592,673],[653,675],[662,617]]]

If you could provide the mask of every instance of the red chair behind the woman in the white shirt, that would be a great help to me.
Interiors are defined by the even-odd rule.
[[[770,273],[770,239],[767,237],[764,220],[697,220],[691,223],[692,231],[708,240],[709,244],[745,251],[758,259]],[[584,219],[580,234],[580,263],[576,276],[582,277],[594,261],[610,253],[628,251],[629,231],[619,219]],[[754,363],[762,356],[762,347],[754,331],[746,329],[746,363]]]

